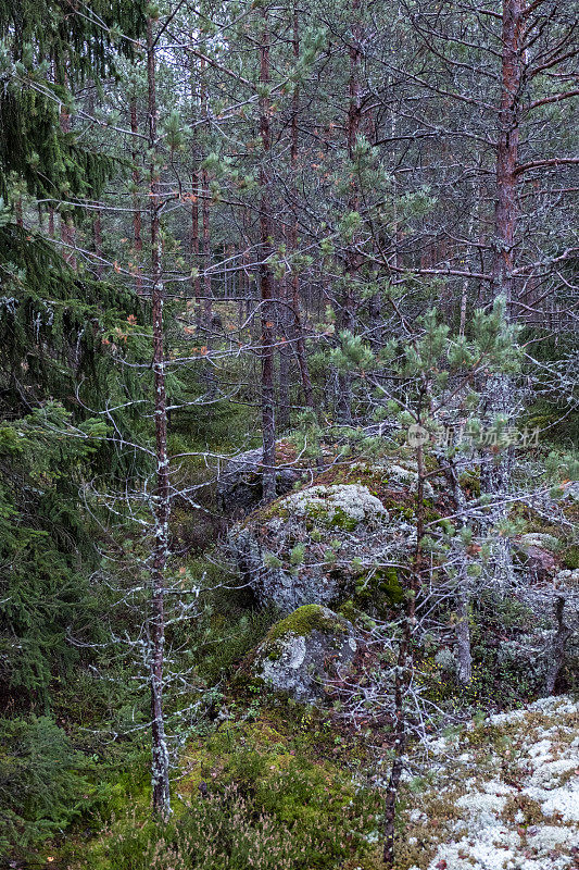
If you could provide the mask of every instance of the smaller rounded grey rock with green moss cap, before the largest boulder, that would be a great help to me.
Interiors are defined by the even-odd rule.
[[[276,692],[313,703],[348,666],[357,644],[351,622],[318,605],[300,607],[277,622],[259,647],[254,675]]]

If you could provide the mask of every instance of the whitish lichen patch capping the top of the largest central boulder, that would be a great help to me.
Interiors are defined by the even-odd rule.
[[[388,511],[380,499],[361,484],[311,486],[288,496],[286,505],[290,513],[316,518],[327,525],[341,518],[365,525],[388,521]]]

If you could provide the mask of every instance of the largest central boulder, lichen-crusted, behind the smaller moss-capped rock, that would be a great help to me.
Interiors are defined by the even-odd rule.
[[[341,604],[356,588],[393,587],[388,562],[416,539],[358,484],[316,485],[278,499],[229,533],[228,546],[263,606],[290,613],[302,605]]]

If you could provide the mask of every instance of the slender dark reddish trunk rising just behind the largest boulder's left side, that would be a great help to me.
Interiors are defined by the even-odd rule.
[[[269,84],[269,30],[267,10],[262,11],[263,32],[261,45],[260,84]],[[260,291],[262,301],[262,434],[263,434],[263,497],[269,501],[276,496],[276,423],[274,385],[274,276],[268,259],[272,254],[272,222],[269,214],[269,99],[260,97],[260,136],[262,140],[262,162],[260,166]]]

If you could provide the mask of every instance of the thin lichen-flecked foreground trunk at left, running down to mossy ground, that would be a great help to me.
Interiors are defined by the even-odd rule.
[[[165,391],[165,357],[163,349],[164,286],[162,273],[161,196],[159,166],[155,163],[156,140],[156,90],[153,22],[147,22],[147,73],[149,87],[148,122],[151,165],[151,282],[153,321],[153,383],[156,488],[154,494],[154,544],[151,569],[151,619],[150,619],[150,682],[152,717],[152,769],[153,811],[166,819],[171,813],[168,782],[168,750],[163,713],[163,668],[165,645],[165,569],[168,556],[168,520],[171,513],[171,489],[167,457],[167,402]]]

